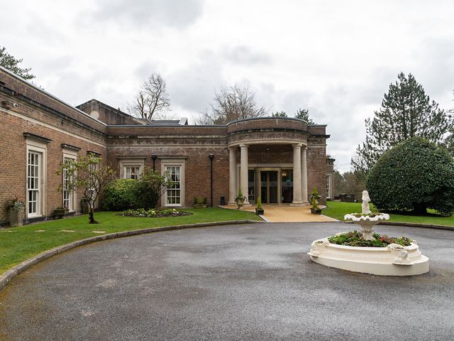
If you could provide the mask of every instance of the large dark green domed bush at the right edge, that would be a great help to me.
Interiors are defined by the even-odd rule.
[[[384,153],[367,175],[379,210],[454,212],[454,161],[445,148],[413,137]]]

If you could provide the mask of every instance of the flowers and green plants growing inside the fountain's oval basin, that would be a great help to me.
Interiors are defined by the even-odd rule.
[[[380,235],[379,233],[374,233],[373,237],[375,238],[374,240],[365,240],[362,238],[361,232],[350,231],[328,237],[328,242],[348,247],[387,247],[389,244],[399,244],[403,247],[409,247],[412,242],[407,237],[389,237],[386,234]]]

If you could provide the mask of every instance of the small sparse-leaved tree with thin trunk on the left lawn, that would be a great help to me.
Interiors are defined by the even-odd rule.
[[[58,190],[82,193],[82,199],[86,200],[89,206],[89,223],[98,224],[94,220],[94,202],[99,197],[101,190],[114,180],[114,170],[101,163],[101,158],[91,153],[78,160],[65,160],[57,171],[57,174],[62,173],[65,173],[67,180],[65,188],[63,185],[59,185]]]

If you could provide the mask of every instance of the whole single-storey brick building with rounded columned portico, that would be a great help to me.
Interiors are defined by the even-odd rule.
[[[56,171],[65,158],[96,153],[122,178],[145,166],[170,172],[175,188],[162,206],[190,207],[197,195],[213,205],[248,193],[254,203],[305,205],[312,188],[329,195],[326,125],[292,118],[243,119],[226,125],[192,126],[187,119],[148,121],[96,101],[78,107],[62,102],[0,67],[0,225],[8,202],[26,201],[26,222],[45,220],[55,207],[79,212],[77,194],[59,193]],[[328,175],[327,175],[328,171]]]

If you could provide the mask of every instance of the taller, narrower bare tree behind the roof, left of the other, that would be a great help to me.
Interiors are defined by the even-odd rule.
[[[170,116],[170,98],[165,80],[159,73],[153,73],[143,82],[132,104],[128,104],[129,114],[143,119],[164,119]]]

